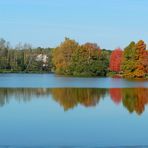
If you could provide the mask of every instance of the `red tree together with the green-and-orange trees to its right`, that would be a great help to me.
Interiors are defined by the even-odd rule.
[[[131,42],[124,50],[115,49],[109,70],[119,77],[148,78],[148,50],[144,41]]]

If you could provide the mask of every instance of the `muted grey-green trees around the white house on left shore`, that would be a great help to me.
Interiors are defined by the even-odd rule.
[[[32,48],[30,44],[16,45],[0,39],[0,72],[50,72],[52,49]]]

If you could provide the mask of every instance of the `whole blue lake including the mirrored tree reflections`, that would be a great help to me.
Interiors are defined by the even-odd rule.
[[[147,147],[148,82],[0,74],[0,148]]]

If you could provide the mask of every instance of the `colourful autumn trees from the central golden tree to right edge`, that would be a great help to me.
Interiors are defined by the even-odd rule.
[[[142,40],[110,51],[66,38],[54,49],[53,63],[55,72],[62,75],[148,78],[148,50]]]

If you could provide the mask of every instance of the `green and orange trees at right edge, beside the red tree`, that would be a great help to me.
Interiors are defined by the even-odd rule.
[[[123,77],[145,78],[148,73],[148,51],[144,41],[131,42],[124,50]]]

